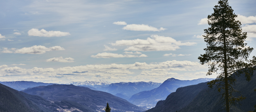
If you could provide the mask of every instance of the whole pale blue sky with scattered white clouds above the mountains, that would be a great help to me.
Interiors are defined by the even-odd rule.
[[[0,81],[163,82],[207,76],[200,64],[218,0],[0,1]],[[229,0],[256,48],[256,1]],[[256,50],[251,56],[256,56]]]

